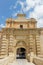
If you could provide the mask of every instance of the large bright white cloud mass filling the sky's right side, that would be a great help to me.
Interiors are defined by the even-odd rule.
[[[29,12],[29,18],[35,18],[37,27],[43,27],[43,0],[26,0],[26,3],[30,9],[34,8],[33,11]]]

